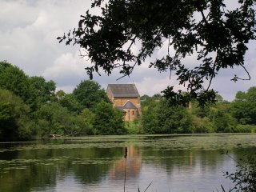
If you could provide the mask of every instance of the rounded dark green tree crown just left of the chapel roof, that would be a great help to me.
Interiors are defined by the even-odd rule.
[[[73,95],[83,108],[93,108],[100,101],[109,102],[105,90],[101,88],[98,82],[91,80],[80,82],[74,89]]]

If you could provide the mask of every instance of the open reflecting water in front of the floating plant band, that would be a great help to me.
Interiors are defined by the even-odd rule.
[[[152,139],[146,142],[146,146],[126,142],[122,146],[111,147],[106,142],[105,147],[83,147],[88,143],[74,146],[72,143],[58,143],[42,145],[42,148],[31,144],[17,148],[12,146],[10,150],[2,148],[0,191],[67,190],[63,188],[66,186],[59,185],[70,182],[77,190],[82,187],[86,191],[103,192],[105,187],[105,191],[120,191],[125,178],[126,190],[129,188],[129,191],[138,190],[138,186],[148,186],[152,180],[150,187],[158,185],[157,191],[166,191],[170,185],[174,186],[172,191],[200,191],[196,187],[207,185],[212,191],[220,186],[220,179],[225,180],[222,171],[232,172],[230,169],[234,170],[236,165],[234,160],[255,151],[254,146],[235,146],[229,152],[233,160],[221,154],[224,150],[210,149],[209,146],[205,149],[170,149],[164,144],[174,140],[165,138],[160,147],[159,142]]]

